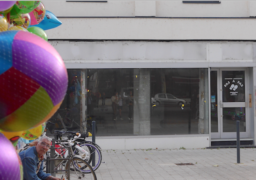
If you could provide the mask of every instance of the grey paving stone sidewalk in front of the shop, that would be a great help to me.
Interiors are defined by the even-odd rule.
[[[102,150],[97,180],[256,180],[256,148]],[[175,165],[193,163],[194,165]]]

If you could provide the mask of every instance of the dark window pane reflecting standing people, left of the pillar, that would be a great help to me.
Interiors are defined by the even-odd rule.
[[[133,69],[87,70],[86,114],[96,135],[134,134],[134,77]]]

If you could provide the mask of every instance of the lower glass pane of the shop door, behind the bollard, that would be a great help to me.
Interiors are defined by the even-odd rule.
[[[245,132],[245,107],[223,108],[223,132],[236,132],[236,121],[240,121],[240,132]]]

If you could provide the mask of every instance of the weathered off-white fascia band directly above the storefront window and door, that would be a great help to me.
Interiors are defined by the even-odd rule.
[[[256,66],[255,42],[49,42],[59,52],[68,68]]]

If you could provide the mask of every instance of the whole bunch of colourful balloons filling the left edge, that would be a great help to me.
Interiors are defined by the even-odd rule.
[[[15,145],[38,138],[66,95],[66,67],[44,32],[61,22],[48,25],[57,18],[47,13],[41,1],[0,1],[0,151],[10,152],[0,156],[2,179],[22,179]]]

